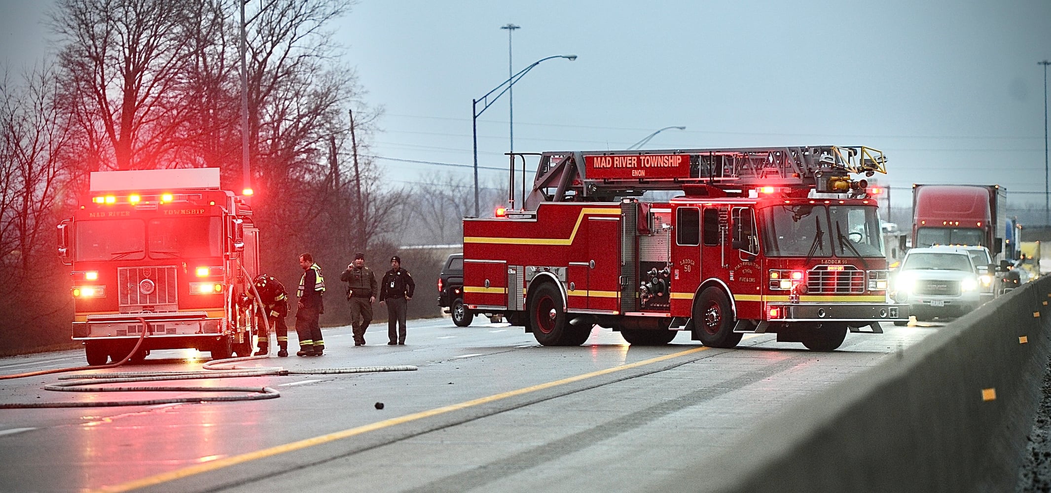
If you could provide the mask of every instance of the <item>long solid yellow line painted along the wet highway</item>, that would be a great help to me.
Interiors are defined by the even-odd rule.
[[[604,370],[593,371],[591,373],[584,373],[581,375],[570,376],[566,378],[548,382],[545,384],[538,384],[531,387],[524,387],[518,390],[511,390],[503,393],[493,394],[486,397],[479,397],[472,400],[465,400],[462,403],[453,404],[449,406],[442,406],[440,408],[434,408],[427,411],[420,411],[412,414],[407,414],[400,417],[392,417],[390,419],[384,419],[382,422],[372,423],[369,425],[364,425],[355,428],[349,428],[347,430],[337,431],[334,433],[329,433],[326,435],[314,436],[313,438],[306,438],[298,441],[292,441],[291,444],[279,445],[276,447],[271,447],[269,449],[256,450],[254,452],[248,452],[240,455],[232,455],[225,458],[220,458],[211,460],[209,463],[199,464],[195,466],[186,467],[183,469],[177,469],[174,471],[164,472],[161,474],[154,474],[152,476],[143,477],[141,479],[136,479],[132,481],[124,482],[111,487],[102,487],[98,490],[92,490],[94,492],[123,492],[137,490],[139,488],[146,488],[150,486],[160,485],[162,482],[173,481],[176,479],[182,479],[184,477],[189,477],[195,474],[201,474],[209,471],[214,471],[218,469],[227,468],[230,466],[235,466],[239,464],[247,463],[249,460],[255,460],[260,458],[269,457],[272,455],[283,454],[285,452],[292,452],[295,450],[306,449],[308,447],[313,447],[315,445],[327,444],[329,441],[335,441],[343,438],[349,438],[351,436],[360,435],[363,433],[368,433],[370,431],[380,430],[384,428],[392,427],[395,425],[401,425],[405,423],[414,422],[417,419],[423,419],[425,417],[436,416],[438,414],[445,414],[447,412],[458,411],[460,409],[470,408],[473,406],[478,406],[482,404],[489,404],[495,400],[504,399],[508,397],[514,397],[516,395],[528,394],[530,392],[536,392],[538,390],[550,389],[552,387],[557,387],[560,385],[572,384],[574,382],[580,382],[588,378],[593,378],[596,376],[605,375],[609,373],[614,373],[621,370],[628,370],[632,368],[637,368],[640,366],[652,365],[654,363],[660,363],[665,360],[672,360],[674,357],[685,356],[687,354],[693,354],[695,352],[704,351],[710,349],[706,346],[701,346],[693,349],[687,349],[685,351],[679,351],[672,354],[665,354],[663,356],[652,357],[650,360],[643,360],[641,362],[631,363],[627,365],[620,365],[612,368],[606,368]]]

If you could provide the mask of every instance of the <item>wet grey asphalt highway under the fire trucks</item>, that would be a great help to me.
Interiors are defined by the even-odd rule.
[[[274,399],[0,410],[0,489],[646,491],[937,330],[888,324],[884,334],[849,334],[839,350],[817,353],[772,334],[746,335],[736,349],[705,348],[687,333],[632,347],[601,328],[580,347],[541,347],[520,327],[481,322],[410,321],[406,346],[388,346],[386,325],[373,325],[356,348],[349,327],[330,328],[325,356],[251,363],[417,371],[156,384],[271,387]],[[197,370],[204,360],[195,356],[156,351],[100,371]],[[5,357],[0,373],[83,364],[82,351]],[[55,382],[0,381],[0,403],[202,395],[42,389]]]

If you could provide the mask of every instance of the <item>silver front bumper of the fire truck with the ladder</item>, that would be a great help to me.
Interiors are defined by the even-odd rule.
[[[908,322],[907,304],[889,303],[785,303],[766,306],[768,322]]]

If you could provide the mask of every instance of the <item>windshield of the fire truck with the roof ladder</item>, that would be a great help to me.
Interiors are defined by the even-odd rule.
[[[767,256],[883,256],[874,207],[779,205],[761,218]]]

